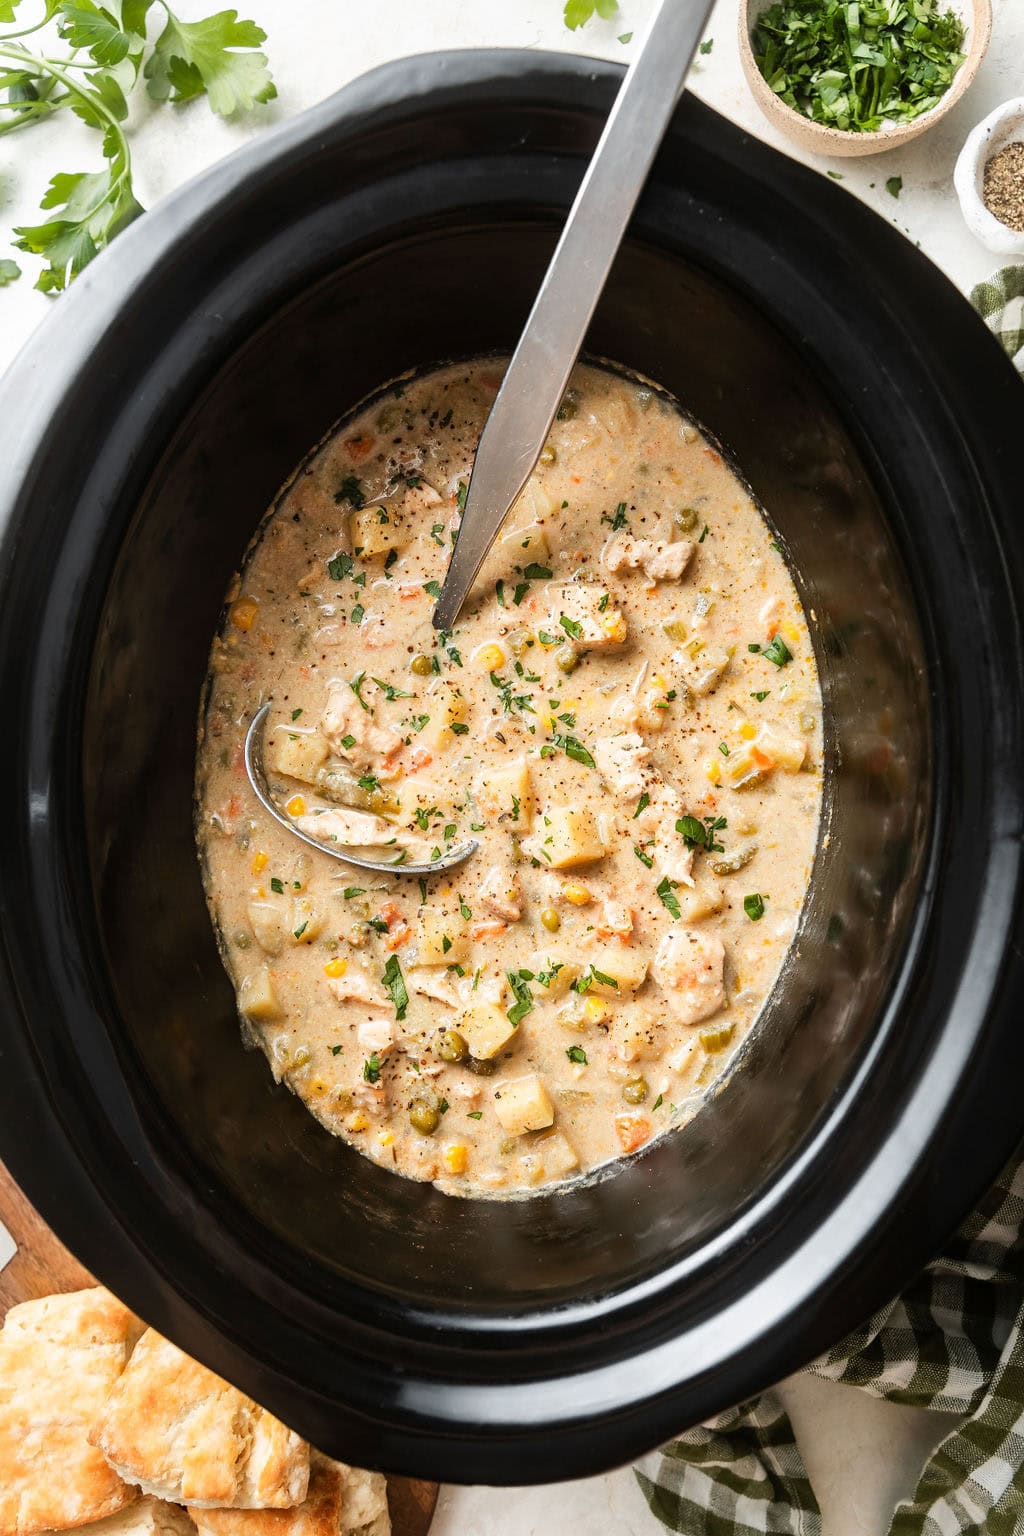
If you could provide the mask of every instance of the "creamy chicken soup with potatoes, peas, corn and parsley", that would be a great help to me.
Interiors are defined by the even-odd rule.
[[[198,753],[247,1038],[335,1135],[473,1195],[694,1112],[792,943],[821,802],[780,547],[645,384],[576,370],[456,630],[431,628],[499,382],[487,359],[399,384],[299,468],[229,593]],[[379,872],[252,796],[267,700],[275,800]]]

